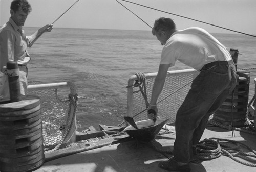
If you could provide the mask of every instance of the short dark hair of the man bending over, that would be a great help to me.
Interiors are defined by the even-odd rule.
[[[155,20],[154,27],[152,28],[152,34],[156,35],[156,33],[159,33],[161,31],[170,33],[175,29],[176,29],[176,24],[172,19],[160,17]]]

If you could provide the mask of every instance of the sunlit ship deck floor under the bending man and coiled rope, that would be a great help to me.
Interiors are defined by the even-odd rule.
[[[256,150],[256,135],[254,134],[241,131],[233,131],[232,133],[232,131],[216,126],[207,127],[202,136],[202,140],[212,137],[235,140]],[[156,151],[156,149],[153,149],[149,144],[137,143],[134,139],[128,138],[127,135],[122,135],[119,140],[118,136],[110,139],[112,140],[109,142],[110,144],[45,162],[44,165],[35,171],[161,172],[165,170],[159,168],[158,163],[168,160],[168,158],[172,156],[171,154]],[[152,142],[162,150],[172,150],[174,141],[175,133],[167,133],[158,135]],[[244,150],[244,152],[250,151]],[[224,155],[211,160],[190,163],[190,167],[191,172],[252,172],[256,170],[255,167],[236,162]]]

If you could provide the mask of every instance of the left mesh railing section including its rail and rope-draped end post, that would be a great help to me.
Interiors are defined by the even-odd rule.
[[[54,83],[51,86],[46,85],[42,84],[36,89],[30,89],[33,85],[28,87],[29,95],[40,97],[45,151],[58,149],[61,145],[68,143],[70,137],[75,137],[75,134],[70,131],[72,129],[75,131],[76,128],[77,106],[77,95],[74,93],[75,90],[71,90],[70,83],[60,84],[61,86],[58,83],[55,86]]]

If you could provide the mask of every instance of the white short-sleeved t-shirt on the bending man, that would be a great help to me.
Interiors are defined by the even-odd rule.
[[[187,28],[176,31],[166,41],[160,64],[174,66],[180,62],[196,69],[214,61],[231,60],[228,50],[216,38],[202,28]]]

